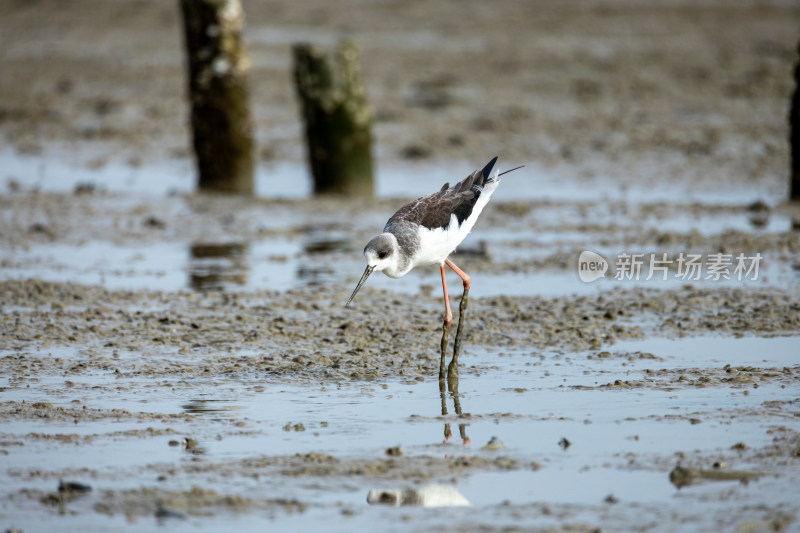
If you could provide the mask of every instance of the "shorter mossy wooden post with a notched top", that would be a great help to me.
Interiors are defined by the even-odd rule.
[[[371,196],[373,114],[358,48],[343,41],[332,62],[310,44],[296,44],[293,52],[314,193]]]

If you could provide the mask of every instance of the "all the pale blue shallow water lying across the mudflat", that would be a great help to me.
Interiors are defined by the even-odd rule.
[[[103,183],[104,190],[112,194],[92,197],[97,202],[94,205],[108,213],[134,213],[138,218],[128,222],[134,224],[141,224],[146,216],[141,213],[148,211],[142,211],[141,206],[148,204],[148,198],[155,198],[150,195],[189,193],[192,187],[186,179],[190,170],[176,161],[164,163],[163,168],[148,166],[146,176],[140,169],[122,169],[113,162],[91,172],[75,166],[74,172],[66,173],[63,168],[51,168],[46,161],[39,161],[36,169],[30,167],[33,159],[17,157],[12,163],[6,170],[9,177],[37,176],[35,182],[23,180],[23,188],[68,192],[80,184]],[[443,168],[447,165],[380,169],[378,197],[425,194],[433,181],[452,181]],[[307,176],[296,179],[298,175],[304,175],[303,171],[292,163],[262,168],[257,193],[305,198],[310,183]],[[127,177],[120,180],[120,176]],[[539,185],[530,188],[530,180]],[[118,192],[125,194],[116,195]],[[602,178],[576,188],[569,181],[549,179],[547,172],[535,168],[509,175],[496,199],[501,207],[487,211],[483,225],[479,224],[465,242],[466,251],[472,249],[476,255],[456,259],[461,266],[483,262],[481,268],[471,272],[470,294],[477,298],[593,296],[632,287],[677,289],[686,282],[677,278],[608,278],[583,283],[574,267],[564,267],[559,258],[584,247],[613,258],[619,253],[618,241],[642,231],[713,236],[736,230],[764,235],[780,234],[790,227],[789,216],[779,211],[760,215],[754,223],[754,215],[741,206],[758,197],[746,189],[691,194],[670,190],[665,195],[657,189],[609,187]],[[512,203],[508,212],[500,203],[520,200],[537,203],[530,208],[514,208],[517,204]],[[765,200],[769,203],[775,199]],[[672,209],[681,216],[643,216],[648,213],[648,202],[655,201],[674,202]],[[714,204],[715,209],[686,216],[697,213],[697,208],[687,202]],[[180,196],[159,198],[157,204],[152,212],[163,217],[168,227],[180,224],[177,221],[187,212],[195,216],[209,209],[207,220],[220,216],[209,207],[211,204],[198,207]],[[725,204],[739,207],[722,207]],[[39,208],[48,214],[45,208]],[[235,229],[225,229],[227,223],[223,223],[222,230],[214,230],[202,240],[176,234],[164,237],[143,229],[122,239],[68,235],[56,242],[24,242],[0,251],[4,261],[0,276],[166,292],[350,287],[363,270],[363,243],[357,239],[366,231],[366,221],[374,221],[378,227],[385,217],[368,209],[354,231],[330,213],[317,213],[313,207],[298,211],[276,204],[271,208],[269,217],[248,211],[237,214],[239,220],[231,218],[230,225],[235,227],[242,217],[255,212],[258,220],[251,225],[257,228],[257,238],[241,238]],[[19,215],[9,216],[13,219]],[[124,217],[122,220],[125,223]],[[791,262],[785,257],[772,259],[762,265],[756,281],[701,280],[692,284],[708,288],[791,286],[797,278]],[[531,266],[537,262],[547,266]],[[492,264],[527,266],[516,271],[492,268]],[[460,292],[458,278],[451,274],[449,283]],[[406,294],[437,293],[439,276],[435,268],[419,269],[398,280],[373,276],[369,284]],[[359,298],[355,305],[367,306],[369,302]],[[665,523],[671,523],[674,516],[693,516],[692,527],[687,526],[687,530],[714,529],[724,523],[720,517],[730,505],[746,502],[793,508],[790,494],[800,480],[800,471],[796,467],[770,470],[762,461],[759,468],[766,468],[765,476],[748,485],[707,482],[681,490],[670,483],[669,471],[681,462],[711,468],[720,459],[729,462],[729,468],[749,470],[749,456],[737,455],[731,446],[745,442],[752,450],[769,450],[774,439],[771,432],[776,427],[800,431],[790,407],[765,408],[765,402],[791,406],[798,401],[796,390],[780,379],[741,385],[719,380],[725,365],[791,367],[796,364],[796,347],[797,337],[716,336],[621,341],[605,346],[603,352],[469,346],[461,359],[464,366],[454,397],[450,393],[442,396],[432,375],[361,383],[309,378],[287,381],[252,372],[207,379],[180,380],[169,375],[145,379],[137,374],[137,368],[147,362],[160,361],[166,366],[170,361],[209,364],[214,354],[183,354],[163,348],[148,353],[115,350],[112,355],[105,350],[91,353],[47,346],[28,355],[32,359],[58,357],[75,362],[88,359],[99,363],[95,368],[107,370],[0,376],[4,401],[85,406],[98,412],[118,409],[120,414],[95,420],[82,418],[77,423],[30,417],[6,424],[0,440],[24,442],[24,446],[7,446],[13,463],[7,469],[10,481],[4,494],[12,499],[2,499],[0,516],[25,530],[66,527],[101,531],[116,527],[138,531],[165,526],[176,531],[219,527],[308,530],[326,524],[326,530],[351,531],[369,528],[376,520],[390,531],[445,528],[454,523],[490,527],[611,524],[613,530],[619,524],[641,524],[644,512],[653,521]],[[0,351],[0,356],[17,354],[11,349]],[[125,368],[123,375],[112,372],[115,366]],[[677,380],[681,374],[709,375],[716,381],[697,386]],[[184,438],[196,444],[185,448]],[[492,438],[500,439],[504,447],[483,449]],[[569,446],[560,444],[565,439]],[[170,441],[177,445],[170,445]],[[401,446],[405,458],[474,461],[501,457],[511,461],[513,467],[435,473],[430,482],[452,485],[471,502],[470,508],[459,510],[367,505],[369,490],[411,486],[403,479],[280,472],[293,468],[291,458],[295,454],[327,454],[360,465],[383,460],[386,450],[393,446]],[[288,462],[279,461],[257,477],[237,466],[257,457],[289,459],[282,459]],[[165,481],[156,481],[164,475]],[[72,514],[67,515],[19,492],[51,492],[59,478],[87,482],[95,491],[70,502],[66,509]],[[308,507],[302,512],[281,506],[241,512],[223,508],[211,511],[211,516],[166,522],[151,514],[134,514],[129,520],[122,514],[98,518],[94,510],[101,491],[119,493],[142,487],[189,491],[196,486],[261,500],[280,496]]]

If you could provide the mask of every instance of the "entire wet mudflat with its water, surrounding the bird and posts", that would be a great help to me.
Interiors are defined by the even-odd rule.
[[[798,528],[794,3],[244,4],[252,199],[193,192],[176,5],[0,0],[0,527]],[[289,79],[344,35],[368,203],[308,198]],[[402,202],[493,155],[526,167],[453,257],[448,389],[435,269],[343,304]],[[637,252],[763,261],[615,280]]]

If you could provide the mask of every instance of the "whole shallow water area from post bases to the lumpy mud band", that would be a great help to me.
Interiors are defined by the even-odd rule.
[[[50,192],[69,192],[80,185],[93,184],[101,191],[112,193],[98,195],[92,199],[92,205],[109,217],[98,223],[113,224],[115,228],[117,224],[141,226],[147,216],[140,213],[150,209],[158,219],[157,224],[170,228],[186,224],[187,217],[196,220],[204,212],[181,196],[163,196],[170,192],[192,191],[192,180],[188,178],[192,171],[186,162],[161,161],[130,167],[110,161],[100,168],[89,169],[77,161],[70,162],[68,154],[59,155],[52,149],[51,152],[47,156],[26,156],[10,149],[0,151],[0,167],[4,169],[5,179],[16,181],[24,190]],[[377,196],[398,198],[399,206],[401,199],[430,192],[431,183],[453,181],[445,174],[448,168],[458,166],[466,168],[466,165],[452,162],[379,168]],[[786,212],[754,213],[744,208],[759,199],[772,204],[778,202],[777,197],[759,196],[756,189],[681,190],[683,186],[691,189],[692,184],[677,187],[670,184],[670,194],[665,196],[657,187],[611,187],[610,181],[603,178],[578,186],[555,172],[525,167],[504,177],[503,186],[491,204],[493,207],[487,209],[461,247],[465,253],[463,262],[461,256],[456,257],[473,277],[473,296],[588,295],[617,286],[639,285],[669,290],[687,281],[675,276],[666,281],[645,281],[646,276],[642,275],[641,281],[606,279],[583,283],[575,272],[577,256],[584,249],[597,251],[613,266],[614,258],[621,252],[635,253],[644,248],[653,253],[669,251],[670,256],[675,257],[678,252],[689,251],[650,242],[661,232],[681,235],[677,241],[680,242],[693,233],[711,237],[728,231],[780,235],[791,230],[791,217]],[[303,178],[298,179],[298,176]],[[536,183],[535,187],[530,186],[531,181]],[[306,198],[311,192],[307,172],[300,163],[283,162],[262,167],[256,182],[257,194],[264,197],[297,199]],[[519,212],[514,209],[507,212],[502,203],[505,201],[534,203]],[[651,203],[672,207],[651,212],[648,207]],[[715,208],[705,212],[695,203]],[[726,205],[739,207],[725,208]],[[32,223],[44,223],[59,237],[49,239],[52,242],[47,242],[48,239],[22,241],[0,249],[3,262],[0,279],[36,277],[100,284],[111,289],[164,291],[283,290],[322,284],[351,286],[363,270],[360,252],[365,240],[379,231],[390,214],[365,206],[363,216],[359,217],[360,225],[354,231],[350,224],[340,220],[341,217],[336,218],[329,212],[318,213],[314,206],[296,209],[275,204],[268,209],[250,208],[240,215],[240,218],[248,218],[246,223],[231,213],[228,213],[230,220],[226,221],[224,213],[212,209],[212,214],[204,222],[198,222],[198,227],[209,224],[215,228],[213,231],[165,236],[163,230],[148,232],[145,225],[136,231],[128,230],[131,235],[119,239],[72,228],[69,220],[52,219],[47,205],[40,205],[35,199],[22,202],[17,209],[25,212],[10,208],[4,213],[10,224],[9,231],[18,232],[19,225],[24,230],[26,223],[30,227],[35,226]],[[118,220],[117,213],[128,213],[128,218]],[[217,217],[222,219],[221,224]],[[754,224],[756,219],[757,224]],[[20,222],[23,220],[30,222]],[[371,220],[374,220],[369,224],[371,229],[366,229],[365,224]],[[70,229],[60,228],[60,223]],[[243,224],[254,226],[257,237],[252,236],[253,232],[242,237],[242,230],[237,227]],[[68,233],[61,236],[63,231]],[[655,236],[648,232],[655,232]],[[642,239],[648,244],[620,249],[620,242]],[[734,239],[734,242],[738,241]],[[470,250],[477,251],[477,260],[485,263],[477,272],[471,269],[475,259],[466,255]],[[748,255],[757,251],[730,250],[734,254]],[[800,270],[794,264],[796,261],[786,254],[778,255],[765,251],[758,280],[689,283],[708,287],[797,285]],[[503,268],[487,266],[487,260]],[[458,286],[458,279],[454,276],[451,279],[451,283]],[[438,287],[439,278],[436,269],[431,267],[399,280],[375,275],[369,284],[416,294]]]

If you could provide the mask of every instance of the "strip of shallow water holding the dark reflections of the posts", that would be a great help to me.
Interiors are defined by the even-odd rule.
[[[477,233],[477,232],[476,232]],[[481,234],[471,238],[479,240]],[[156,242],[124,245],[106,241],[90,241],[80,245],[67,243],[29,244],[24,248],[0,251],[5,266],[0,279],[39,278],[56,282],[102,285],[109,289],[154,289],[174,291],[252,291],[286,290],[298,287],[334,284],[350,286],[363,270],[359,243],[336,237],[298,239],[275,237],[253,243],[173,243]],[[202,249],[203,252],[198,252]],[[504,246],[502,241],[491,245],[493,260],[533,260],[541,248]],[[602,251],[605,257],[614,254]],[[460,259],[457,259],[460,261]],[[469,264],[470,259],[460,261]],[[577,262],[577,260],[576,260]],[[466,268],[466,267],[465,267]],[[784,263],[760,266],[758,279],[745,276],[738,280],[683,280],[670,274],[667,280],[656,275],[646,280],[614,280],[613,275],[593,283],[580,280],[577,271],[545,268],[533,272],[480,271],[472,274],[473,297],[517,295],[545,297],[568,294],[595,294],[614,288],[644,286],[669,290],[685,284],[698,287],[785,287],[794,283],[798,271]],[[706,273],[703,272],[703,277]],[[374,275],[368,282],[380,289],[415,294],[440,284],[436,268],[420,268],[399,279]],[[460,280],[449,273],[452,287]]]

